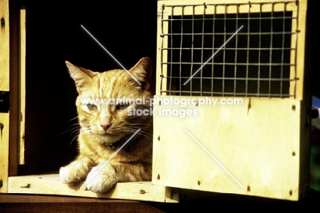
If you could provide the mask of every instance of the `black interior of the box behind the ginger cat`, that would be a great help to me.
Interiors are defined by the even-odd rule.
[[[92,71],[153,64],[155,93],[157,1],[27,1],[25,165],[18,175],[58,171],[77,155],[77,91],[65,60]]]

